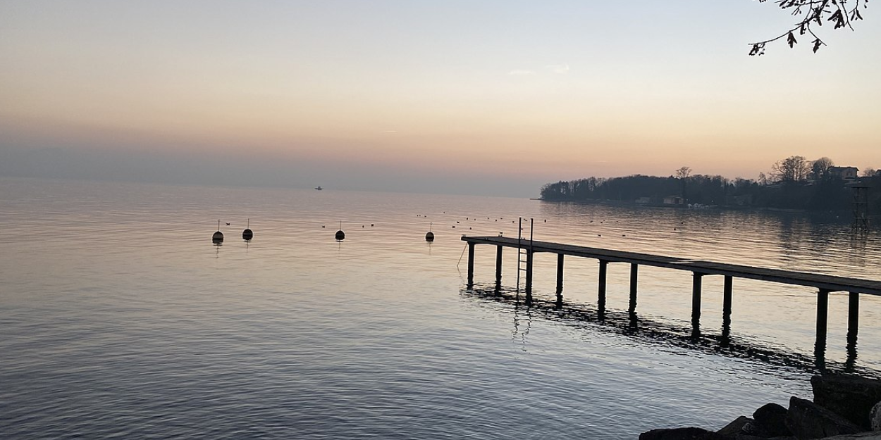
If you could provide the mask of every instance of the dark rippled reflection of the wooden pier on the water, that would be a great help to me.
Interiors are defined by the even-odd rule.
[[[559,295],[547,299],[533,296],[531,304],[526,304],[519,292],[508,289],[500,283],[478,284],[460,293],[464,297],[478,298],[487,306],[513,307],[515,328],[512,335],[516,337],[519,334],[524,349],[532,319],[548,319],[590,330],[623,334],[647,344],[689,348],[707,354],[765,363],[778,368],[794,368],[814,374],[849,372],[864,377],[881,378],[881,372],[857,365],[856,334],[848,334],[846,361],[836,363],[825,358],[825,339],[818,340],[811,356],[782,346],[751,341],[749,336],[732,335],[730,312],[722,317],[721,334],[707,334],[700,332],[700,326],[694,326],[693,322],[692,326],[682,326],[659,319],[646,319],[639,317],[632,309],[607,310],[603,303],[598,303],[597,307],[592,304],[561,304]],[[525,329],[522,329],[523,317],[527,320]],[[588,326],[584,326],[585,324]]]

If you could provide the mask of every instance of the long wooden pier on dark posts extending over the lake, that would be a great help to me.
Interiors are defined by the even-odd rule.
[[[609,263],[626,263],[630,265],[630,307],[629,311],[635,317],[637,284],[639,281],[639,267],[653,266],[656,268],[670,268],[687,270],[692,272],[692,333],[700,334],[700,297],[701,282],[707,275],[724,276],[722,292],[722,319],[723,328],[728,329],[731,316],[731,296],[733,292],[734,278],[748,278],[767,282],[780,282],[798,286],[811,287],[817,290],[817,340],[815,354],[818,359],[825,352],[826,328],[828,316],[829,293],[834,291],[848,292],[848,345],[855,344],[859,326],[860,294],[881,296],[881,282],[860,278],[848,278],[843,276],[820,275],[791,270],[772,268],[757,268],[736,264],[725,264],[706,260],[688,260],[663,255],[648,253],[633,253],[600,249],[587,246],[564,245],[522,238],[507,237],[468,237],[463,236],[463,241],[468,243],[468,284],[474,284],[474,248],[477,245],[496,246],[496,283],[501,282],[501,258],[502,249],[513,247],[518,253],[526,253],[526,284],[524,291],[527,304],[532,298],[532,261],[534,253],[557,254],[557,295],[561,301],[563,290],[563,260],[564,256],[574,256],[599,260],[599,280],[597,311],[602,319],[605,311],[606,269]],[[522,250],[522,251],[521,251]],[[519,268],[518,268],[519,269]],[[519,289],[518,285],[518,289]]]

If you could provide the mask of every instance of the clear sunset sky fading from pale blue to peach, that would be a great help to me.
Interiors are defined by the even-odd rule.
[[[881,168],[881,9],[755,0],[0,2],[0,176],[537,196]]]

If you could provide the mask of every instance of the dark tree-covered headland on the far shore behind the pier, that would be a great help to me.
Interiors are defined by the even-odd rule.
[[[648,205],[722,206],[744,208],[850,210],[854,186],[869,187],[870,212],[881,212],[881,172],[837,167],[829,158],[806,160],[791,156],[772,165],[759,179],[726,179],[693,174],[684,166],[667,177],[634,174],[626,177],[560,180],[545,184],[546,201],[632,202]]]

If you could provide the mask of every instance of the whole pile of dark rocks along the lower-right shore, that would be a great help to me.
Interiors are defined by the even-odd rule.
[[[742,415],[718,431],[653,429],[640,440],[881,440],[881,381],[850,375],[811,378],[814,400],[789,399]]]

